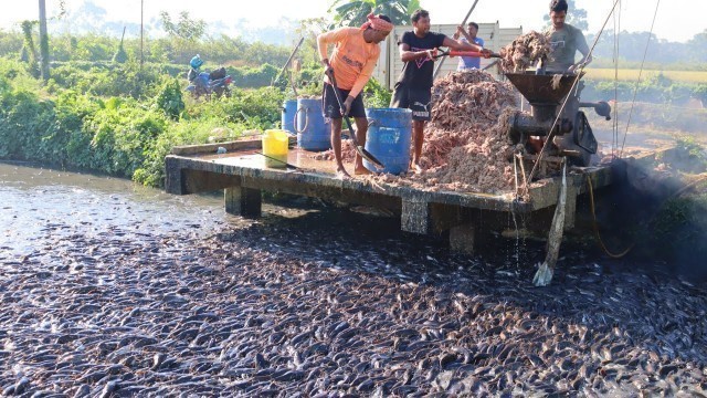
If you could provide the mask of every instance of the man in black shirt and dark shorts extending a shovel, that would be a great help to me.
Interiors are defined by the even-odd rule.
[[[413,170],[421,171],[424,124],[430,119],[432,108],[430,102],[436,49],[446,46],[452,50],[481,51],[485,56],[488,56],[490,51],[481,45],[457,42],[442,33],[430,32],[430,13],[425,10],[415,10],[411,21],[413,31],[403,33],[398,42],[400,60],[404,65],[395,83],[390,106],[412,109],[412,167]]]

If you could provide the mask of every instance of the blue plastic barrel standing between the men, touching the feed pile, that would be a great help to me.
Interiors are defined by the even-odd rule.
[[[367,108],[368,134],[366,149],[376,156],[384,168],[379,170],[363,159],[371,171],[399,175],[410,167],[410,142],[412,139],[412,111],[408,108]]]

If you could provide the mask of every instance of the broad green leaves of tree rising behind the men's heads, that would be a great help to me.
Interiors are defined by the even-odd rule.
[[[335,0],[328,12],[340,27],[357,27],[366,22],[369,12],[390,17],[393,24],[410,23],[410,14],[420,8],[419,0]]]

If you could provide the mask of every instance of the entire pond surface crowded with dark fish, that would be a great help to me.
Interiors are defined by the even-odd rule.
[[[535,289],[530,242],[468,258],[307,200],[250,221],[91,175],[0,180],[7,396],[706,394],[707,290],[661,264],[564,247]]]

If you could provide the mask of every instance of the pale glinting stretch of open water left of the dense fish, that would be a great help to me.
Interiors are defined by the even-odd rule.
[[[267,209],[267,207],[266,207]],[[223,211],[222,198],[173,196],[131,181],[0,163],[0,247],[18,254],[48,239],[127,230],[203,237],[252,221]]]

